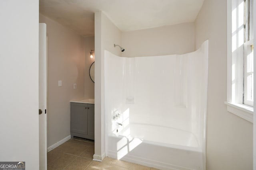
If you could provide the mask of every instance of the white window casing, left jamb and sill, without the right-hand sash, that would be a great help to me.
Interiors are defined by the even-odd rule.
[[[227,105],[229,112],[253,123],[253,104],[252,106],[244,104],[244,51],[246,51],[244,50],[246,49],[244,48],[244,45],[246,45],[246,43],[244,43],[243,17],[241,24],[241,15],[244,16],[244,14],[241,13],[241,11],[244,12],[244,5],[241,5],[243,2],[244,0],[228,0],[227,4],[228,80],[227,102],[225,102],[225,104]],[[252,19],[252,16],[250,16],[250,18]],[[234,22],[236,25],[234,25]],[[251,31],[252,29],[250,29],[250,32]],[[241,41],[241,39],[243,41]]]

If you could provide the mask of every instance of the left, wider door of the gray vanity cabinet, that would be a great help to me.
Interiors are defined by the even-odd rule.
[[[87,135],[88,104],[71,103],[70,131]]]

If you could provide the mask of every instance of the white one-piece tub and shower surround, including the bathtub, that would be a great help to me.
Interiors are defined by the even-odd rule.
[[[184,55],[104,57],[106,156],[205,170],[208,40]]]

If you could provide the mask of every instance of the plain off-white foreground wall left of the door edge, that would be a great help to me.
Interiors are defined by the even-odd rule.
[[[0,1],[0,161],[27,170],[39,169],[38,5]]]

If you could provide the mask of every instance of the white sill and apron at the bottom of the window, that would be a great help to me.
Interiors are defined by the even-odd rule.
[[[227,105],[227,109],[230,113],[253,123],[253,107],[230,102],[225,102],[225,104]]]

